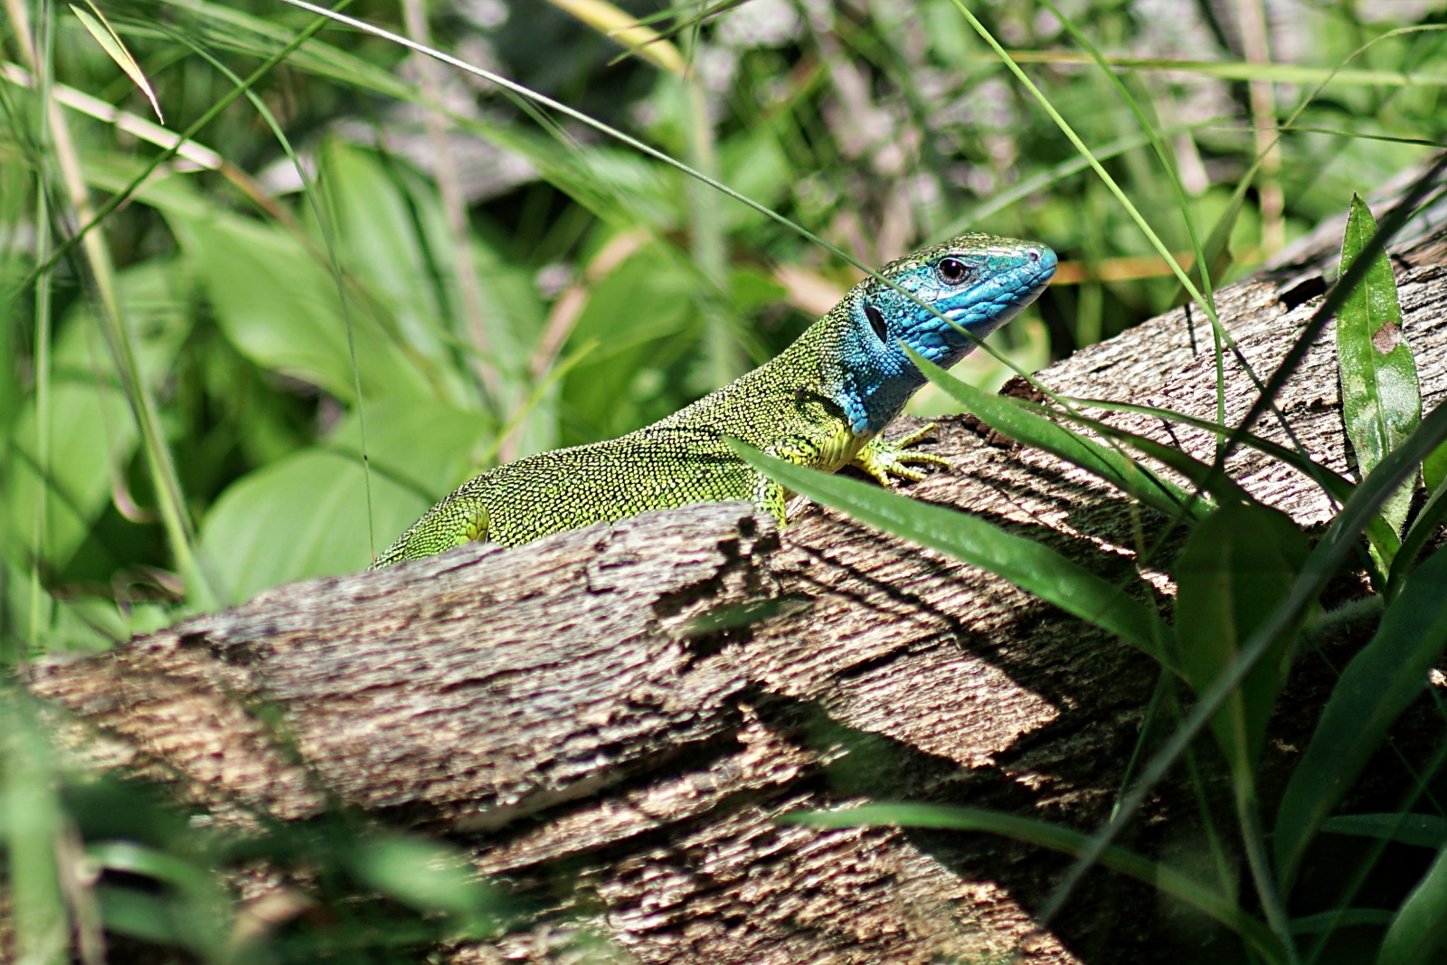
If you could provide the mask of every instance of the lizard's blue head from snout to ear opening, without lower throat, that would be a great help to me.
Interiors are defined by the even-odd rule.
[[[875,352],[913,369],[906,344],[948,367],[975,346],[955,326],[984,339],[1035,301],[1053,273],[1055,252],[1045,245],[964,234],[886,265],[880,275],[897,288],[861,282],[849,314]]]

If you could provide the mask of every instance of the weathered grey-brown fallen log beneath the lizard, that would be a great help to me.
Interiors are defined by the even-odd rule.
[[[1320,302],[1334,271],[1324,250],[1218,292],[1257,375]],[[1447,392],[1447,237],[1393,262],[1433,405]],[[1214,366],[1205,320],[1181,310],[1040,378],[1066,395],[1214,417]],[[1240,359],[1226,379],[1233,422],[1255,392]],[[1323,340],[1278,409],[1299,446],[1344,472],[1336,385]],[[1113,421],[1213,451],[1201,433]],[[1273,418],[1259,431],[1286,441]],[[964,420],[942,422],[936,451],[955,470],[910,495],[1107,577],[1139,567],[1169,608],[1169,560],[1137,563],[1159,518]],[[1243,451],[1230,467],[1302,524],[1331,514],[1315,485],[1269,459]],[[38,664],[30,687],[106,735],[77,736],[93,761],[169,783],[224,819],[301,819],[344,802],[446,832],[518,887],[567,868],[577,917],[447,949],[454,962],[564,961],[574,927],[660,965],[977,962],[1016,948],[1030,962],[1147,962],[1233,945],[1104,872],[1036,932],[1032,910],[1062,867],[1039,849],[774,819],[907,799],[1088,830],[1120,787],[1156,673],[1000,579],[833,512],[809,508],[780,534],[747,506],[713,505],[282,586],[98,657]],[[1310,683],[1297,693],[1281,729],[1301,735],[1317,705],[1299,696]],[[1269,755],[1294,752],[1278,742]],[[1181,828],[1194,807],[1163,787],[1127,843],[1189,854]]]

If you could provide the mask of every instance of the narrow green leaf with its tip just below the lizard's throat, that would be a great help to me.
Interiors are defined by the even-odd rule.
[[[1019,399],[1010,396],[983,392],[954,378],[917,352],[907,347],[906,352],[930,382],[949,392],[967,412],[978,415],[997,433],[1079,466],[1168,516],[1175,516],[1182,509],[1194,518],[1204,518],[1210,512],[1210,506],[1192,499],[1189,492],[1160,479],[1130,457],[1037,415],[1032,411],[1035,407],[1022,405]]]

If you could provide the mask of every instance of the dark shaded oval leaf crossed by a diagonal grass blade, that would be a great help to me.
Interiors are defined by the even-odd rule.
[[[1175,564],[1175,664],[1205,693],[1240,658],[1242,644],[1291,592],[1311,547],[1286,514],[1226,503],[1191,531]],[[1276,637],[1211,729],[1242,771],[1256,764],[1299,622]]]

